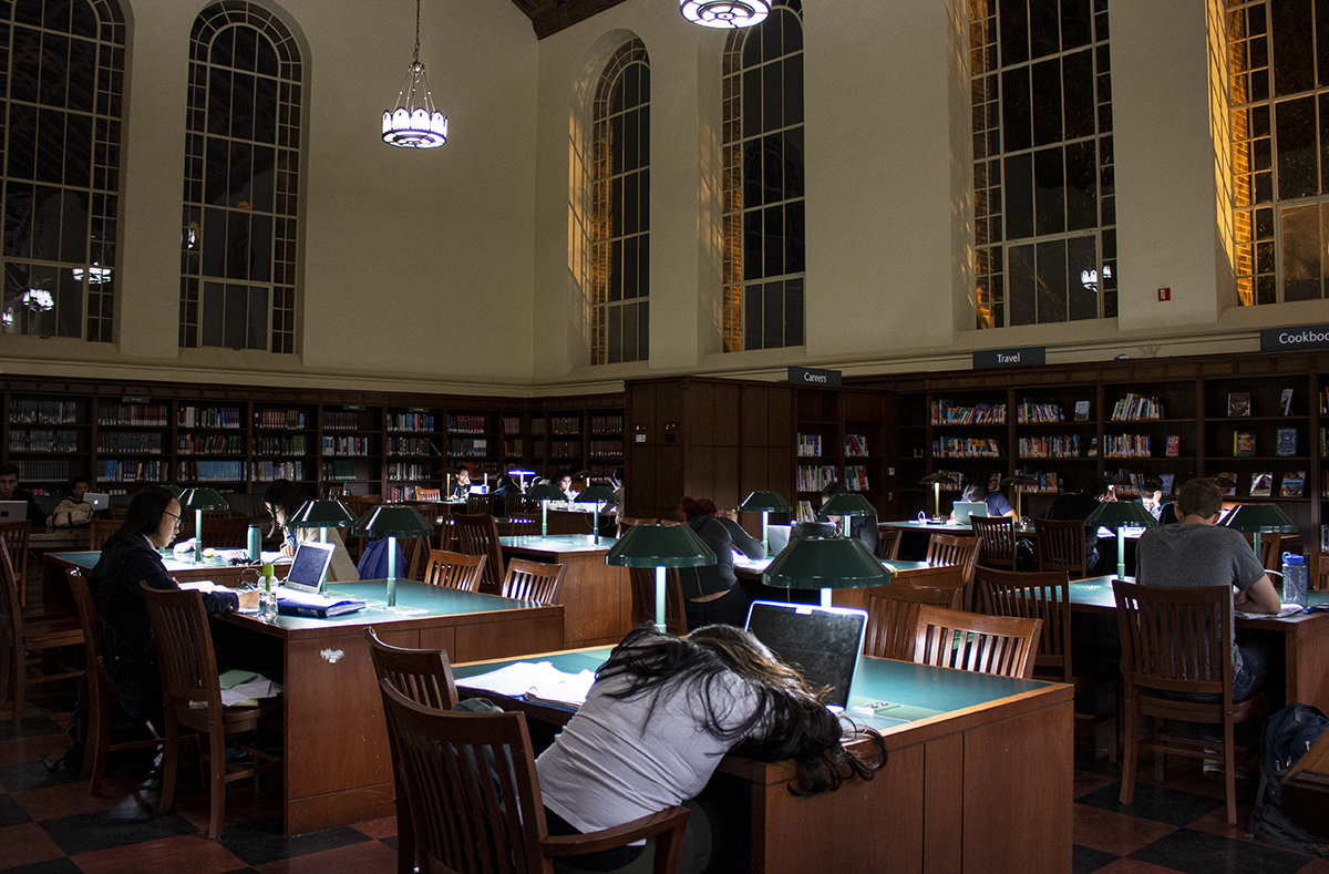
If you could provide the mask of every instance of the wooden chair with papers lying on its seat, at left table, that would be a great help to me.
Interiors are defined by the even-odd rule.
[[[203,596],[197,591],[153,588],[140,583],[148,603],[148,618],[157,638],[157,661],[162,673],[162,699],[166,711],[166,761],[162,770],[161,813],[175,804],[175,770],[179,766],[179,729],[207,735],[199,740],[199,758],[207,761],[211,790],[211,816],[207,837],[222,837],[226,814],[226,784],[254,777],[258,770],[279,762],[280,757],[260,749],[246,748],[254,764],[231,765],[226,761],[226,736],[256,731],[260,725],[280,728],[282,701],[271,699],[258,707],[222,707],[222,687],[213,654],[213,632],[203,610]]]

